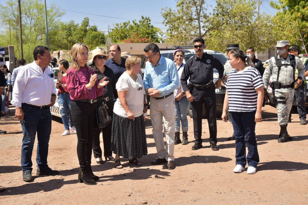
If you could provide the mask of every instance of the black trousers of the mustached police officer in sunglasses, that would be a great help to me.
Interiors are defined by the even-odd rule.
[[[215,90],[211,89],[196,89],[192,91],[195,98],[191,102],[193,112],[193,129],[196,144],[202,144],[202,109],[203,105],[206,110],[206,118],[209,124],[209,142],[217,143],[217,123],[216,123],[216,94]]]

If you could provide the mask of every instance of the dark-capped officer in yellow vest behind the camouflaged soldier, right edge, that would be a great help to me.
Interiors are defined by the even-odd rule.
[[[298,47],[297,46],[290,46],[289,53],[291,55],[298,57]],[[305,76],[303,78],[302,85],[298,86],[298,89],[295,90],[295,98],[296,98],[296,105],[297,105],[297,111],[300,119],[301,125],[306,125],[306,107],[305,107],[305,101],[306,101],[306,73],[308,74],[308,59],[307,58],[300,58],[300,60],[303,62],[305,66]],[[298,70],[295,71],[295,78],[298,76]],[[292,112],[292,111],[291,111]],[[289,122],[291,122],[291,112],[289,115]]]

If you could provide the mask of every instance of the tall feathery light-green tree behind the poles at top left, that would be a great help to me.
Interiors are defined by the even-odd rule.
[[[52,4],[52,8],[47,10],[48,30],[50,31],[50,50],[61,47],[55,40],[55,31],[58,29],[59,19],[64,12],[59,11],[56,5]],[[27,62],[33,61],[33,50],[38,45],[46,45],[46,29],[45,29],[45,10],[42,1],[34,0],[31,2],[22,2],[22,37],[23,37],[23,53]],[[3,32],[0,34],[0,45],[7,46],[10,44],[9,19],[11,22],[11,38],[16,58],[20,58],[19,45],[19,20],[17,1],[6,1],[0,5],[0,21]]]

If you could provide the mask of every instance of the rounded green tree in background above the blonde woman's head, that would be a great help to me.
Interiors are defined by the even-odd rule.
[[[97,26],[90,26],[88,17],[84,18],[80,25],[73,20],[67,23],[61,22],[56,39],[67,45],[68,50],[78,42],[87,44],[91,50],[106,43],[105,34],[97,30]]]

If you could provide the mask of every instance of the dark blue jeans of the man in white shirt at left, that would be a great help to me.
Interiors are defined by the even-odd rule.
[[[21,147],[22,171],[32,171],[32,151],[37,133],[36,163],[42,169],[47,165],[48,143],[51,133],[50,108],[37,109],[22,105],[24,118],[21,121],[23,139]]]

